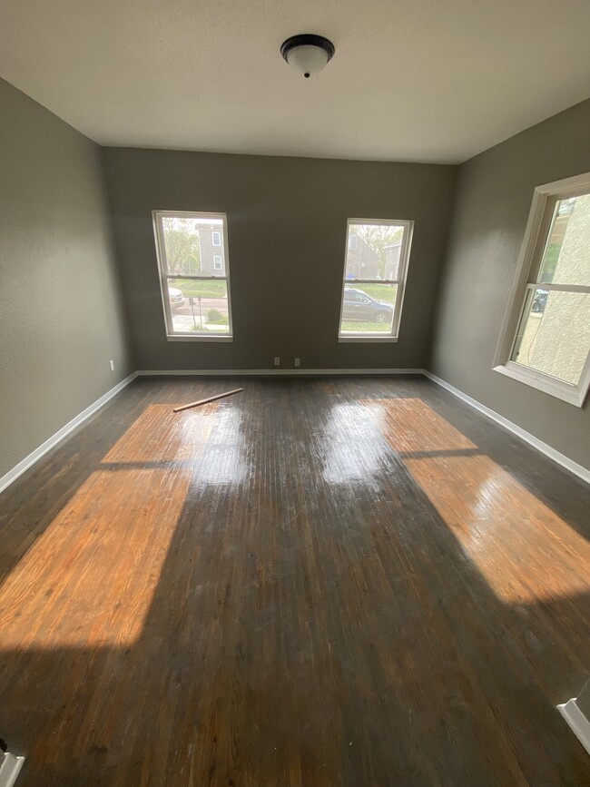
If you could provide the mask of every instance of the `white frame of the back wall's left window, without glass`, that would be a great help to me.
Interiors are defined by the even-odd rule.
[[[162,218],[165,217],[181,219],[221,219],[223,232],[223,249],[225,259],[225,275],[215,276],[206,274],[202,276],[178,276],[167,272],[165,261],[164,233]],[[233,327],[231,322],[231,291],[230,291],[230,252],[228,246],[227,214],[226,213],[206,213],[188,211],[152,211],[153,234],[155,238],[156,259],[158,261],[158,272],[160,274],[160,291],[162,294],[162,308],[164,312],[164,323],[166,326],[166,339],[168,341],[233,341]],[[220,239],[221,240],[221,239]],[[228,293],[228,322],[229,331],[227,333],[177,333],[173,330],[172,309],[168,298],[168,281],[174,279],[195,279],[198,281],[225,281]],[[173,286],[173,285],[172,285]]]

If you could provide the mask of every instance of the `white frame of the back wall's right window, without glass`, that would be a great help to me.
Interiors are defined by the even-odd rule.
[[[404,233],[401,240],[401,250],[399,251],[399,265],[397,279],[347,279],[347,261],[349,257],[349,231],[351,224],[391,224],[394,227],[403,227]],[[342,292],[340,296],[340,318],[338,323],[338,340],[341,343],[349,342],[395,342],[398,341],[399,323],[401,321],[401,310],[406,294],[406,280],[408,278],[409,252],[412,245],[412,235],[414,233],[414,221],[407,219],[349,219],[346,224],[346,242],[344,244],[344,275],[342,280]],[[356,288],[362,284],[397,284],[398,292],[396,303],[393,310],[393,320],[391,330],[388,333],[342,333],[342,315],[344,314],[344,290],[346,287]]]

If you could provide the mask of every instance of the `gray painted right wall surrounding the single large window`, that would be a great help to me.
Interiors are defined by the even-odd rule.
[[[428,364],[583,467],[590,467],[590,401],[575,408],[492,363],[535,186],[588,171],[590,100],[460,166]]]

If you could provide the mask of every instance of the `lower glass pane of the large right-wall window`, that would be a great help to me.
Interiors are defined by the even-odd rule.
[[[590,348],[590,293],[528,290],[512,360],[577,385]]]

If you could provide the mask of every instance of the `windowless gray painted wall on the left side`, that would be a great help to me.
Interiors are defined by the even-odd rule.
[[[132,365],[103,152],[2,80],[0,117],[1,477]]]

